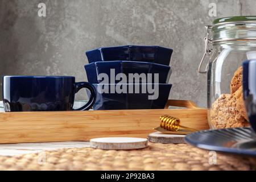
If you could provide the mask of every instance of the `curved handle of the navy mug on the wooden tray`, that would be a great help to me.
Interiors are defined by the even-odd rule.
[[[92,84],[89,82],[76,82],[75,83],[75,92],[79,92],[82,88],[86,88],[90,91],[90,99],[89,101],[82,107],[78,109],[72,109],[72,110],[89,110],[90,107],[92,107],[96,101],[96,89]]]

